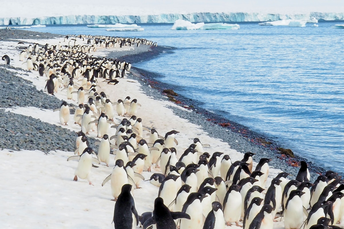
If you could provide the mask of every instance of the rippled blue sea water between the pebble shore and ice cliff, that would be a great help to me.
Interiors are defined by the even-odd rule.
[[[203,107],[265,134],[325,168],[344,170],[344,30],[240,24],[239,30],[107,32],[86,26],[31,28],[58,34],[140,37],[173,46],[135,64]]]

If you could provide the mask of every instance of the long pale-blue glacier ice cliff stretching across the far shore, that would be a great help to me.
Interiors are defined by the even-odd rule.
[[[12,17],[0,18],[0,25],[53,25],[53,24],[115,24],[115,23],[174,23],[182,19],[192,23],[206,22],[273,22],[280,20],[300,20],[308,23],[318,23],[318,21],[343,21],[344,12],[342,13],[162,13],[150,15],[61,15],[61,16],[44,16],[36,18]]]

